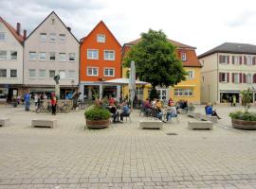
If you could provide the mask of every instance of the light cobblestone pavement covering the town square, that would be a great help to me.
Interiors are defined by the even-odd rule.
[[[213,130],[187,129],[185,115],[155,130],[138,129],[137,111],[132,123],[84,129],[83,112],[0,107],[11,118],[0,128],[0,189],[256,188],[256,131],[230,128],[229,112],[241,108],[217,107]],[[38,117],[58,126],[31,128]]]

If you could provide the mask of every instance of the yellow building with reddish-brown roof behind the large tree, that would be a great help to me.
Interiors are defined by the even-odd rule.
[[[122,58],[124,58],[133,45],[139,43],[141,39],[137,39],[131,43],[125,43],[122,47]],[[200,104],[200,88],[201,88],[201,64],[196,57],[195,47],[184,43],[178,43],[168,40],[169,43],[176,46],[176,55],[182,61],[184,69],[188,72],[186,80],[181,81],[174,87],[160,88],[156,87],[159,99],[167,100],[170,97],[176,102],[178,100],[188,100],[189,102]],[[122,77],[127,77],[128,68],[122,68]],[[138,99],[145,100],[150,94],[150,85],[137,86],[136,95]],[[124,89],[124,95],[128,94],[128,89]]]

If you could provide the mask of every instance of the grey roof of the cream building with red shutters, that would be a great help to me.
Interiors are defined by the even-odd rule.
[[[256,45],[248,43],[223,43],[199,55],[198,58],[201,59],[214,53],[256,54]]]

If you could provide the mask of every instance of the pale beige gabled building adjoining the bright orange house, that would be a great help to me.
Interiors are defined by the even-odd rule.
[[[60,75],[61,98],[77,90],[80,43],[52,11],[27,37],[24,46],[24,86],[30,93],[54,92]]]

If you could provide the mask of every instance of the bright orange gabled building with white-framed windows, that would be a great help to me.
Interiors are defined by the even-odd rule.
[[[102,85],[121,77],[121,45],[102,21],[82,38],[80,62],[80,91],[85,99],[119,97],[119,86]]]

